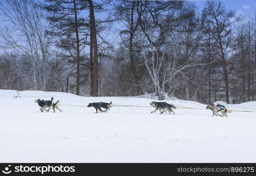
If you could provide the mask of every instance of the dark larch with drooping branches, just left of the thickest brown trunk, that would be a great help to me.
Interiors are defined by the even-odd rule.
[[[78,16],[79,12],[88,8],[84,1],[79,0],[46,0],[44,9],[49,13],[47,16],[50,22],[50,29],[47,30],[48,35],[55,38],[58,48],[65,51],[61,53],[62,57],[68,62],[76,64],[76,94],[80,94],[80,65],[86,62],[81,58],[80,48],[86,44],[83,36],[87,33],[88,23],[86,19]],[[88,43],[87,43],[88,44]]]

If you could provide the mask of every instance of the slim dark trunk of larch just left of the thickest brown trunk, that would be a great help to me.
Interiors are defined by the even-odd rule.
[[[80,49],[79,49],[79,33],[78,33],[78,22],[77,22],[77,7],[76,0],[74,3],[74,14],[75,14],[75,28],[76,28],[76,44],[77,44],[77,95],[80,94]]]

